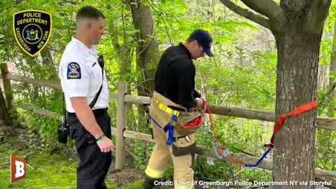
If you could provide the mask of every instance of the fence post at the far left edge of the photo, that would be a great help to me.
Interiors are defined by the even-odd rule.
[[[10,85],[10,80],[7,78],[8,66],[6,63],[0,63],[0,70],[3,80],[3,90],[5,92],[6,104],[8,112],[13,108],[13,92]]]

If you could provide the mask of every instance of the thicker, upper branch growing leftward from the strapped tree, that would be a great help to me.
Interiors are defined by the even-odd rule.
[[[282,13],[282,9],[272,0],[241,0],[246,6],[256,12],[267,16],[269,20],[274,20]]]

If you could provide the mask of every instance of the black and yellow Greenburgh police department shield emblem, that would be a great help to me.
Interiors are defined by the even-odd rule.
[[[47,45],[51,27],[51,14],[42,10],[23,10],[13,14],[15,39],[31,57],[38,55]]]

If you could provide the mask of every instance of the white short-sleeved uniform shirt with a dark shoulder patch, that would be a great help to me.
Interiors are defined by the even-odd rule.
[[[66,111],[75,112],[70,97],[87,97],[90,105],[103,83],[102,92],[92,109],[105,109],[109,104],[106,73],[102,79],[102,68],[98,63],[97,50],[87,48],[76,38],[66,45],[59,63],[59,78],[64,92]]]

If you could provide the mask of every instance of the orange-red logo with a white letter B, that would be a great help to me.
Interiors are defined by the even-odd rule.
[[[26,178],[26,160],[10,155],[10,183]]]

